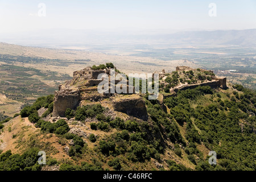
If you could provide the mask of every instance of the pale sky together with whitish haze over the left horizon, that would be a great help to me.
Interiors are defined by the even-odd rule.
[[[216,16],[212,17],[211,3],[216,5]],[[134,43],[141,41],[140,35],[253,28],[253,0],[0,0],[0,42],[25,46],[106,44],[131,39]]]

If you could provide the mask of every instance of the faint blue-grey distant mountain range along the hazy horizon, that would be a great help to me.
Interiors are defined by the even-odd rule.
[[[171,32],[171,31],[170,31]],[[168,44],[191,46],[255,46],[256,29],[180,31],[93,31],[54,29],[1,34],[0,42],[26,46],[83,46],[95,44]]]

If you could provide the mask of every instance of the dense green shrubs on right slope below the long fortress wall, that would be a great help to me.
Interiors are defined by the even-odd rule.
[[[181,91],[177,97],[167,98],[165,103],[179,125],[186,124],[185,137],[189,144],[203,143],[209,150],[217,152],[219,165],[215,169],[255,170],[256,95],[241,85],[233,87],[242,93],[234,91],[233,96],[226,94],[230,100],[222,101],[220,93],[214,94],[208,86],[199,86]],[[200,102],[204,94],[211,95],[209,104],[193,108],[191,103]],[[213,100],[214,97],[216,100]],[[189,148],[185,152],[189,156],[194,155]],[[192,156],[189,159],[197,164],[196,169],[213,169],[203,160],[196,162]]]

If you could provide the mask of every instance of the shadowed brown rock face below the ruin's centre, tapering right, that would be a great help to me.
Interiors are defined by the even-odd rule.
[[[147,121],[145,101],[141,97],[117,98],[112,100],[114,110]]]

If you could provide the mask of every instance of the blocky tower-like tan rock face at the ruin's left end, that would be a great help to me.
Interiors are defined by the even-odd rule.
[[[76,109],[80,101],[80,90],[63,89],[55,91],[53,104],[53,117],[65,117],[65,111],[70,109]]]

